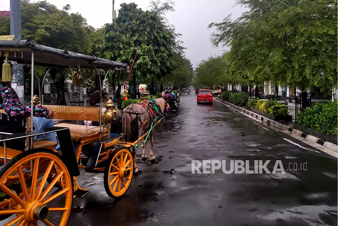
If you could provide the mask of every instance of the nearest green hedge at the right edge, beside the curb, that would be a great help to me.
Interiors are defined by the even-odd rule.
[[[297,114],[298,124],[338,137],[338,102],[314,103]]]

